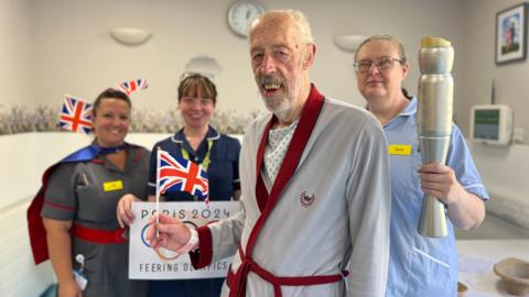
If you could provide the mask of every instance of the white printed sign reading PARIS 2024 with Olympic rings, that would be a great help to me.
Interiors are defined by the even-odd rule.
[[[238,201],[161,202],[160,212],[172,216],[196,228],[207,222],[228,218],[240,210]],[[175,252],[162,251],[160,255],[145,240],[149,218],[156,212],[154,202],[133,202],[134,222],[129,234],[129,278],[131,279],[187,279],[226,277],[231,257],[220,260],[195,271],[188,254],[177,256]]]

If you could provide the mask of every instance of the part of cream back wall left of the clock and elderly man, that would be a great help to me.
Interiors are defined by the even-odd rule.
[[[226,26],[228,1],[79,1],[39,0],[35,9],[35,87],[40,102],[61,103],[71,92],[93,100],[104,88],[142,77],[147,91],[134,94],[137,108],[176,106],[176,86],[186,63],[196,55],[216,58],[218,108],[261,108],[248,61],[247,41]],[[141,46],[125,46],[109,31],[116,26],[151,30]]]

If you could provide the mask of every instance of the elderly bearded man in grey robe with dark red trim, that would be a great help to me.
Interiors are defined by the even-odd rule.
[[[271,113],[245,135],[242,210],[197,231],[160,215],[160,235],[149,230],[154,249],[192,251],[197,268],[236,253],[223,296],[385,294],[386,139],[367,111],[311,85],[315,53],[301,12],[269,11],[252,24],[251,67]]]

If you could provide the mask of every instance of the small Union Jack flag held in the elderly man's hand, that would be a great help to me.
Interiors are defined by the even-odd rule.
[[[158,187],[160,195],[187,191],[209,202],[206,172],[198,164],[162,150],[158,150]]]

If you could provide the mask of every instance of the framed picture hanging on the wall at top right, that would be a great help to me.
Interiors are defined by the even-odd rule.
[[[496,65],[527,57],[527,3],[496,13]]]

